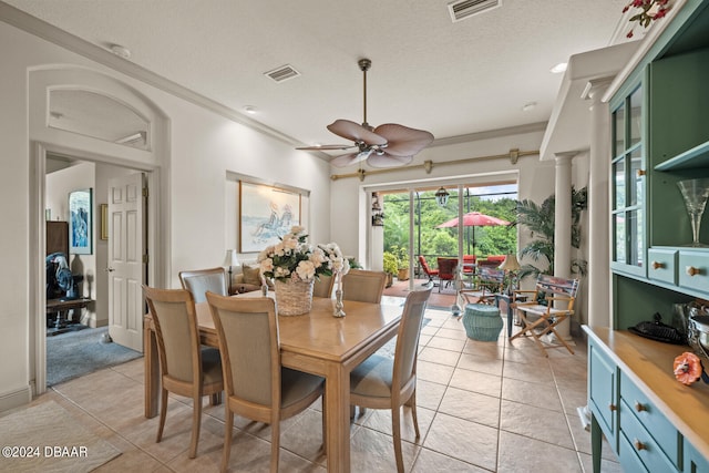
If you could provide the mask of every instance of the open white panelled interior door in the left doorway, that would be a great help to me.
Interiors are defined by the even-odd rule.
[[[109,181],[109,333],[114,342],[143,351],[145,280],[144,176]]]

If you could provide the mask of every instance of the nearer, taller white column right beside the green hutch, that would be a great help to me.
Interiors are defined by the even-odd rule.
[[[610,326],[610,123],[608,104],[600,101],[613,78],[592,80],[582,95],[590,100],[590,163],[588,177],[588,320]]]

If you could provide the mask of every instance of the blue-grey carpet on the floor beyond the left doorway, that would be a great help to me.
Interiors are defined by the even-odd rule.
[[[143,356],[117,343],[105,342],[107,333],[107,327],[100,327],[48,337],[47,384],[59,384]]]

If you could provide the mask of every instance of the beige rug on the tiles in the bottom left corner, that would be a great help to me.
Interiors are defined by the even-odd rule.
[[[1,472],[90,472],[121,454],[54,401],[0,418]]]

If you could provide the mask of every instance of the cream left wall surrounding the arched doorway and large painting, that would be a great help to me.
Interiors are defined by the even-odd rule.
[[[0,244],[9,249],[4,266],[12,268],[0,276],[0,411],[30,400],[37,376],[35,327],[44,317],[43,308],[32,307],[40,290],[31,282],[32,266],[38,260],[31,244],[38,192],[33,184],[32,140],[40,140],[48,148],[81,148],[84,157],[96,162],[160,168],[162,195],[152,198],[161,200],[161,215],[156,217],[163,238],[161,248],[152,249],[166,255],[161,268],[165,287],[179,286],[181,269],[219,265],[225,249],[234,246],[227,241],[225,223],[227,172],[309,189],[310,234],[315,241],[330,240],[329,166],[321,160],[2,22],[0,56]],[[35,75],[44,80],[45,70],[51,68],[76,78],[103,73],[155,104],[168,120],[168,140],[161,144],[162,154],[155,162],[140,162],[137,157],[145,153],[28,125],[41,125],[43,117],[37,116],[37,107],[45,101],[42,95],[34,96],[38,85],[30,82]],[[41,85],[41,81],[38,83]],[[120,158],[112,157],[115,155]]]

